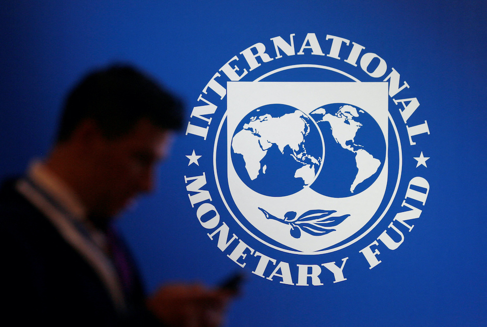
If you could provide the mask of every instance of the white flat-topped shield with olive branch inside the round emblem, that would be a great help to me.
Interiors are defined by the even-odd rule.
[[[230,194],[223,194],[221,187],[219,189],[230,213],[250,235],[290,253],[332,252],[343,247],[344,242],[350,244],[361,238],[364,234],[359,231],[378,222],[371,223],[372,218],[380,220],[383,216],[377,210],[383,203],[388,181],[388,101],[387,82],[229,82],[226,147]],[[273,117],[257,110],[258,113],[242,125],[243,119],[248,119],[256,109],[275,104],[296,108],[297,111],[287,113],[287,116]],[[325,108],[332,104],[346,105],[340,107],[337,113],[328,113]],[[365,115],[364,111],[380,128],[385,141],[384,158],[374,158],[360,145],[351,147],[354,133],[363,127],[355,118],[361,113]],[[317,117],[321,120],[318,121]],[[321,122],[326,121],[330,129],[326,132],[332,133],[334,141],[343,150],[353,152],[358,173],[350,185],[350,196],[335,197],[313,189],[313,182],[318,180],[323,163],[333,158],[327,157],[325,143],[321,157],[303,153],[305,140],[301,140],[301,144],[297,140],[299,133],[305,134],[299,131],[300,124],[296,122],[300,121],[304,121],[307,130],[317,129],[320,133],[323,129]],[[239,134],[237,129],[242,126],[244,130]],[[323,136],[321,139],[324,140]],[[235,169],[232,153],[243,155],[248,177],[257,179],[273,168],[260,162],[266,156],[266,151],[272,146],[283,150],[283,145],[289,147],[286,147],[287,150],[291,149],[290,152],[283,152],[283,155],[290,153],[291,157],[302,162],[305,155],[319,163],[314,167],[303,163],[303,167],[296,171],[294,178],[303,180],[302,188],[291,194],[273,196],[256,191],[242,180],[242,175],[239,176]],[[371,173],[377,173],[373,182],[354,194],[355,187]],[[326,183],[323,180],[320,182]],[[268,186],[272,188],[273,185],[270,183]],[[230,201],[240,213],[233,212],[236,209],[227,204]],[[357,236],[359,234],[361,236]]]

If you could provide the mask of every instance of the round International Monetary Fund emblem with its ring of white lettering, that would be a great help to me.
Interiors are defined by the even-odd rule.
[[[346,280],[347,262],[377,266],[429,193],[417,145],[429,129],[409,93],[384,59],[341,37],[243,50],[187,124],[197,220],[236,264],[275,282],[323,285]]]

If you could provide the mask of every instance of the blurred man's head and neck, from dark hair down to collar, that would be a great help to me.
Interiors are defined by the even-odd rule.
[[[116,215],[153,187],[182,105],[129,66],[85,77],[68,95],[51,166],[80,196],[89,214]]]

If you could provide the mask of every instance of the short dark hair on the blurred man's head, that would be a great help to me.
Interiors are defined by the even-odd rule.
[[[183,105],[134,67],[113,65],[91,72],[68,94],[56,141],[68,140],[84,119],[93,119],[105,137],[114,139],[143,118],[162,129],[178,130]]]

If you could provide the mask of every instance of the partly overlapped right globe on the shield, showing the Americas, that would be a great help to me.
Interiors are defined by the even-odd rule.
[[[327,104],[309,116],[317,122],[326,144],[323,167],[310,188],[342,198],[372,185],[386,157],[384,134],[375,119],[346,103]]]

